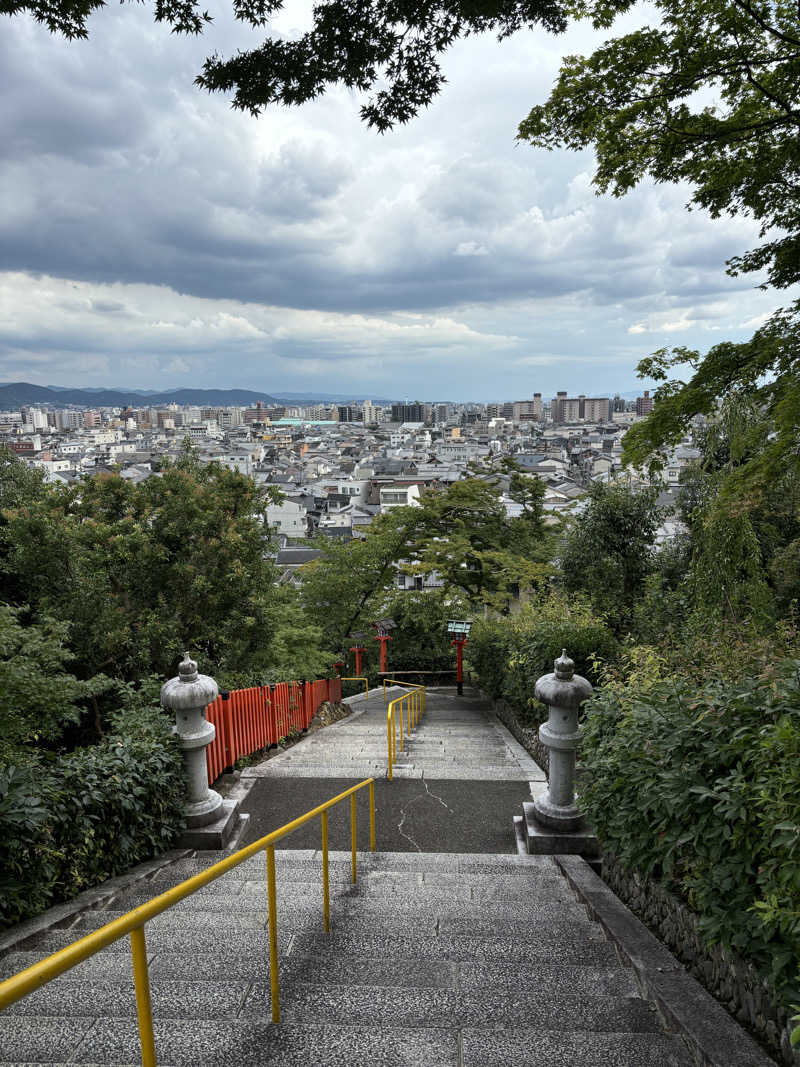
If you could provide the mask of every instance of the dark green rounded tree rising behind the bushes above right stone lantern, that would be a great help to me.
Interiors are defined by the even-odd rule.
[[[561,553],[566,589],[583,592],[618,628],[631,618],[653,566],[661,520],[658,490],[592,482],[586,510],[574,521]]]

